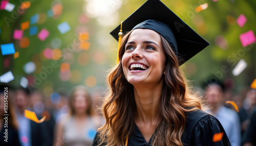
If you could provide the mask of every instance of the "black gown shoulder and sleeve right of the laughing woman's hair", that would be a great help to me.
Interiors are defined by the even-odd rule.
[[[215,134],[222,132],[220,141],[212,141]],[[220,121],[202,110],[187,114],[182,141],[183,145],[231,145]]]

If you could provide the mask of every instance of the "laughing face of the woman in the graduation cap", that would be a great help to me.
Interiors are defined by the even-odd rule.
[[[122,68],[126,80],[135,84],[159,83],[165,74],[161,36],[149,29],[135,29],[125,44]]]

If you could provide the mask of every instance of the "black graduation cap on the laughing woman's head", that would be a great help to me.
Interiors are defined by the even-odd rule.
[[[121,24],[110,34],[118,40]],[[151,29],[161,34],[184,62],[202,51],[209,43],[159,0],[148,0],[122,22],[122,31]],[[184,63],[183,62],[183,63]]]

